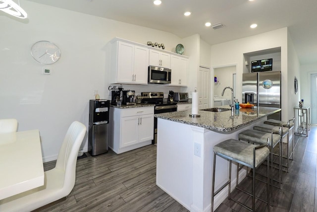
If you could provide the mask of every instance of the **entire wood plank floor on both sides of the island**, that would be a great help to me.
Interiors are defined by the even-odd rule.
[[[283,174],[281,189],[273,188],[275,212],[314,212],[317,193],[317,127],[311,127],[308,138],[295,136],[297,145],[289,173]],[[173,198],[156,186],[156,146],[149,145],[122,154],[108,153],[77,161],[76,183],[66,200],[41,212],[187,212]],[[44,164],[52,169],[55,161]],[[261,170],[259,170],[261,172]],[[251,188],[245,178],[241,186]],[[258,195],[265,195],[265,185],[258,183]],[[232,197],[249,202],[251,198],[234,190]],[[266,211],[256,201],[257,211]],[[225,200],[216,212],[244,212],[246,209]]]

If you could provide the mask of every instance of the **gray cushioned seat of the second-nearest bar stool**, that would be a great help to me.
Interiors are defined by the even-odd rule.
[[[271,139],[273,141],[273,147],[280,141],[281,137],[278,134],[271,135],[270,133],[265,133],[258,130],[245,130],[239,133],[239,140],[243,141],[252,141],[258,144],[264,144],[269,138],[268,145],[271,146]]]

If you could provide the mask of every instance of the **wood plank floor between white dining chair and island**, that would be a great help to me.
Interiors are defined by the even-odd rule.
[[[79,159],[74,189],[41,212],[188,212],[156,185],[156,145]],[[56,161],[44,163],[52,169]]]

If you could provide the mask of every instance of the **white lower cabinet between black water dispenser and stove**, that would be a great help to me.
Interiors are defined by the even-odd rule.
[[[119,154],[152,143],[154,107],[110,107],[109,148]]]

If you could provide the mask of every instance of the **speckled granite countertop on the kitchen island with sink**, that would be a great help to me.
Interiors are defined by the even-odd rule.
[[[230,107],[221,106],[221,108]],[[271,107],[240,108],[239,113],[237,113],[236,111],[233,118],[231,118],[231,110],[220,113],[199,110],[199,118],[190,117],[190,110],[154,114],[154,117],[198,126],[219,133],[231,133],[231,131],[234,131],[240,127],[257,121],[265,116],[276,113],[280,110],[281,109],[279,108]]]

